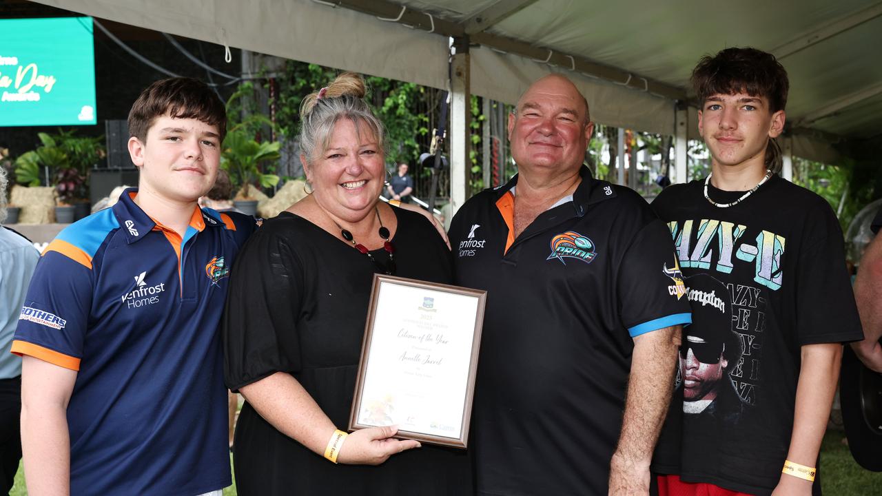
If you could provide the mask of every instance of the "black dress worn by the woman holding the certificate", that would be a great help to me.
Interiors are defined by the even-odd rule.
[[[451,255],[430,222],[393,210],[396,275],[450,283]],[[371,253],[387,259],[382,249]],[[367,256],[302,217],[283,212],[264,222],[231,275],[222,325],[228,387],[288,372],[345,430],[376,271]],[[236,425],[234,469],[243,496],[473,492],[464,450],[423,444],[377,467],[335,465],[276,430],[248,402]]]

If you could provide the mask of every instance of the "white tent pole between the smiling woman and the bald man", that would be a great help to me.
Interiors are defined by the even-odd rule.
[[[454,38],[453,47],[456,55],[451,58],[450,71],[450,202],[451,214],[456,214],[467,199],[472,105],[468,38]]]

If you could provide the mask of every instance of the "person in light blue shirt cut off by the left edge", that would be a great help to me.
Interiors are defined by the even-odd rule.
[[[12,335],[25,303],[27,284],[40,252],[26,238],[3,226],[6,220],[6,169],[0,167],[0,493],[10,492],[21,460],[21,358],[12,355]]]

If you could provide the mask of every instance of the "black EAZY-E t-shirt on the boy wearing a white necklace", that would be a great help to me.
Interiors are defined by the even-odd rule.
[[[684,379],[697,388],[704,376],[678,374],[653,469],[767,495],[787,458],[801,346],[863,338],[842,231],[825,199],[777,176],[733,207],[715,207],[703,188],[704,181],[670,186],[652,206],[674,239],[693,316],[717,304],[729,321],[728,327],[699,324],[694,332],[687,327],[681,349],[695,348],[695,357],[704,355],[700,361],[715,363],[721,340],[735,336],[733,353],[722,352],[734,363],[722,372],[710,404],[684,401]],[[717,203],[744,194],[708,190]],[[701,274],[710,285],[691,288]],[[698,345],[686,341],[690,334],[700,336]],[[813,492],[820,493],[817,479]]]

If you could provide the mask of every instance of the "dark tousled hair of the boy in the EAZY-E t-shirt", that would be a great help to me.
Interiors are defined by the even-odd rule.
[[[787,106],[787,71],[774,55],[762,50],[731,48],[715,56],[703,56],[692,71],[691,81],[700,106],[714,94],[737,93],[765,96],[773,113]]]

